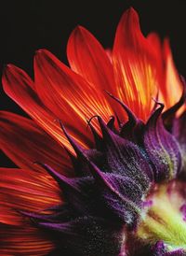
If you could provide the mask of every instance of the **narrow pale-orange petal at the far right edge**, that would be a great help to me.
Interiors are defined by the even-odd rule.
[[[175,67],[172,53],[170,50],[169,42],[166,39],[164,42],[164,58],[166,64],[166,84],[161,87],[161,92],[163,94],[163,99],[166,108],[172,107],[175,103],[179,101],[183,87],[179,79],[179,74]]]

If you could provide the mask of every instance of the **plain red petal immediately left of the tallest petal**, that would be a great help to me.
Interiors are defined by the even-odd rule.
[[[98,92],[114,92],[113,66],[100,43],[84,27],[73,30],[67,56],[73,71],[86,78]]]

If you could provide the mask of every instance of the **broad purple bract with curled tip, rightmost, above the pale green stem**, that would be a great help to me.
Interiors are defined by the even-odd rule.
[[[145,127],[144,147],[153,163],[155,181],[176,178],[181,168],[181,155],[176,138],[166,131],[160,105]]]

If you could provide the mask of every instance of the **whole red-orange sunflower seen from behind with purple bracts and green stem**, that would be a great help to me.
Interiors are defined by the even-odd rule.
[[[3,87],[31,119],[0,112],[0,254],[186,255],[185,81],[168,40],[130,8],[113,50],[85,28],[70,67],[37,50],[34,79]]]

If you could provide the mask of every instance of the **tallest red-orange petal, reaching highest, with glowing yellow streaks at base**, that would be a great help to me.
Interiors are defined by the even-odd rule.
[[[141,34],[139,17],[133,8],[124,13],[117,27],[113,68],[118,97],[146,121],[162,74],[157,51]]]

